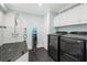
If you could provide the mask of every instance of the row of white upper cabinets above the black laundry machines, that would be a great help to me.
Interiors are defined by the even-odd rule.
[[[54,26],[87,23],[87,4],[77,6],[54,19]]]

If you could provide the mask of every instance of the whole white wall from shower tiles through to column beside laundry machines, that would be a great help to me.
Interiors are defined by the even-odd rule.
[[[47,34],[53,33],[53,21],[54,15],[50,12],[44,17],[19,13],[19,36],[13,37],[12,34],[14,32],[14,15],[15,12],[8,12],[4,15],[4,26],[7,29],[3,31],[3,44],[4,43],[13,43],[13,42],[22,42],[23,41],[23,28],[28,29],[28,47],[32,48],[32,29],[37,28],[37,47],[45,47],[47,50]],[[21,23],[22,22],[22,23]],[[22,26],[21,26],[22,25]]]

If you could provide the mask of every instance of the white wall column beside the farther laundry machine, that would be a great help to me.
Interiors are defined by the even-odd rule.
[[[55,32],[54,30],[54,17],[55,13],[47,10],[47,13],[44,15],[44,47],[47,50],[47,35]]]

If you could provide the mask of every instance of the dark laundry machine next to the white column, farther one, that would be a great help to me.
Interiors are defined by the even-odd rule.
[[[59,42],[61,35],[67,34],[67,32],[57,32],[56,34],[48,34],[48,55],[55,61],[59,61]]]

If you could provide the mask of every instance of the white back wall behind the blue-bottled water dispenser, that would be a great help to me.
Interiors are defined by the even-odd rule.
[[[28,47],[32,48],[32,29],[37,28],[37,47],[43,47],[43,28],[44,19],[40,15],[20,13],[20,18],[26,23],[28,28]]]

